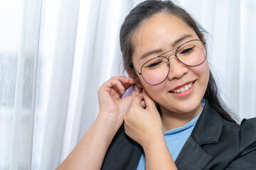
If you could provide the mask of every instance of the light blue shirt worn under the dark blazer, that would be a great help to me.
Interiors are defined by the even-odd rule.
[[[204,107],[206,103],[205,99],[203,99],[201,103],[202,103],[202,106]],[[177,159],[178,154],[181,152],[181,149],[185,144],[186,140],[188,140],[188,137],[191,135],[191,132],[193,131],[193,128],[195,127],[196,122],[200,117],[201,113],[198,116],[196,116],[196,118],[193,118],[189,123],[187,123],[183,127],[164,132],[166,145],[169,149],[171,157],[174,159],[174,162]],[[139,159],[137,170],[144,170],[144,169],[146,169],[146,163],[145,163],[145,155],[143,153],[142,157]]]

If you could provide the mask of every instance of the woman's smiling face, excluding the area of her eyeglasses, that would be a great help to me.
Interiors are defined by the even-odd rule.
[[[188,40],[198,40],[195,31],[181,19],[167,13],[160,13],[144,21],[134,34],[134,55],[132,63],[140,71],[146,61],[177,47]],[[178,40],[178,41],[177,41]],[[142,58],[146,53],[150,55]],[[165,57],[175,53],[167,53]],[[148,53],[149,54],[149,53]],[[158,85],[147,84],[141,75],[137,74],[140,85],[149,96],[159,103],[161,111],[172,113],[191,113],[201,107],[209,79],[208,60],[196,67],[188,67],[178,62],[173,55],[169,58],[170,71],[168,77]],[[193,83],[190,89],[186,86]],[[181,93],[174,90],[188,89]]]

